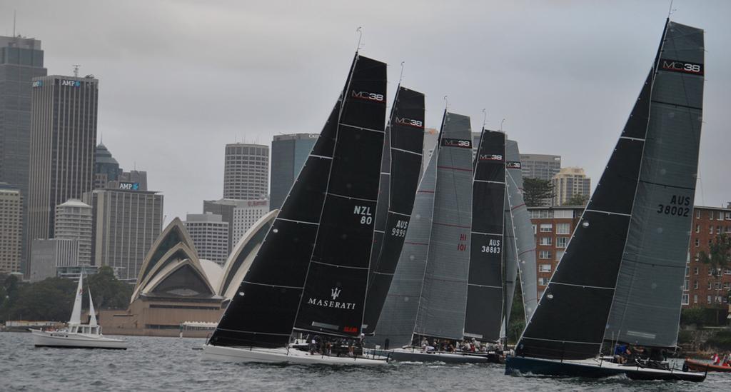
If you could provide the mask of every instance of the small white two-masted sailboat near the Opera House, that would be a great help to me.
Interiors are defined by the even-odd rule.
[[[81,300],[83,297],[83,275],[79,275],[79,284],[76,288],[74,309],[71,312],[71,320],[66,329],[61,331],[43,331],[30,329],[35,347],[61,347],[61,348],[105,348],[126,350],[127,343],[121,339],[107,338],[102,335],[102,326],[96,323],[96,312],[94,312],[94,301],[89,296],[89,323],[81,323]]]

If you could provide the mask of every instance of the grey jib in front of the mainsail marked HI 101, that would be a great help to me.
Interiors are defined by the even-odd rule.
[[[435,148],[421,178],[409,230],[406,231],[404,246],[376,325],[375,336],[368,339],[382,347],[401,347],[412,343],[431,237],[438,154]]]

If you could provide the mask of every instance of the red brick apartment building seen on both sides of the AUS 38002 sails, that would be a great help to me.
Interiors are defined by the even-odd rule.
[[[558,260],[564,255],[569,238],[583,212],[583,206],[529,207],[528,211],[536,235],[540,298],[551,274],[556,271]],[[721,233],[731,235],[731,208],[693,208],[683,307],[727,307],[731,295],[731,265],[723,271],[715,271],[714,274],[713,268],[698,260],[700,252],[708,253],[709,246]]]

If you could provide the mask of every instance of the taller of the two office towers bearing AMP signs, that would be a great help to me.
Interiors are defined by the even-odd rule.
[[[56,206],[94,186],[98,91],[99,80],[91,76],[33,79],[29,240],[53,238]]]

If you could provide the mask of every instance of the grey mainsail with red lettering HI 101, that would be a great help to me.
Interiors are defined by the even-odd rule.
[[[438,148],[431,241],[414,333],[462,339],[472,215],[468,116],[444,113]]]

